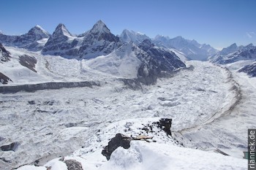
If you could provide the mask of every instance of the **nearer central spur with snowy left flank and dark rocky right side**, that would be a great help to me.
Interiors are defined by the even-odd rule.
[[[140,45],[125,43],[109,55],[92,59],[91,69],[122,78],[138,79],[146,85],[157,81],[185,64],[170,50],[157,47],[146,39]]]

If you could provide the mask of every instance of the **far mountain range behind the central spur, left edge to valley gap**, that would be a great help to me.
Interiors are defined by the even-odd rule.
[[[102,20],[99,20],[91,30],[83,34],[71,34],[64,24],[59,24],[50,35],[40,26],[35,26],[27,34],[8,36],[0,33],[0,42],[7,46],[22,47],[32,51],[42,50],[42,54],[61,55],[65,58],[89,59],[99,55],[108,55],[125,42],[135,42],[136,45],[145,39],[151,39],[146,34],[124,29],[120,36],[113,35]],[[217,50],[210,45],[200,45],[195,40],[184,39],[181,36],[170,39],[168,36],[156,36],[151,39],[155,45],[176,49],[187,58],[206,60]]]

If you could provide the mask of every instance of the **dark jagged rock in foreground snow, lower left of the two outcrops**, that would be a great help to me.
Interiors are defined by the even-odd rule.
[[[107,160],[110,159],[110,155],[116,148],[124,147],[124,149],[128,149],[130,147],[130,142],[132,141],[131,137],[124,136],[123,134],[116,134],[114,138],[108,142],[108,146],[102,150],[102,155],[105,155]]]

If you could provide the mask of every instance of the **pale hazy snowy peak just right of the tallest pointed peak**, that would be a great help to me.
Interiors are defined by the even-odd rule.
[[[121,42],[135,42],[136,45],[143,42],[145,39],[150,39],[145,34],[141,34],[135,31],[129,31],[124,29],[120,35]]]

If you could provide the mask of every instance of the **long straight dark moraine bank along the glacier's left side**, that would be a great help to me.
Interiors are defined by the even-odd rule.
[[[78,87],[92,88],[94,85],[99,86],[99,82],[45,82],[34,85],[0,86],[0,93],[17,93],[19,91],[34,92],[36,90]]]

